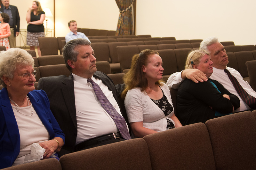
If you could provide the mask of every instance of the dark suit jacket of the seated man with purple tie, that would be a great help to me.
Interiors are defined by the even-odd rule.
[[[112,91],[116,101],[118,101],[117,98],[121,94],[124,84],[114,85],[113,81],[106,74],[100,71],[96,71],[93,77],[100,78],[103,84],[108,86],[108,89]],[[50,100],[50,109],[59,123],[60,129],[63,130],[65,134],[66,141],[65,145],[59,152],[60,155],[73,152],[76,144],[77,125],[74,81],[72,74],[70,74],[69,77],[62,75],[40,78],[37,88],[46,92]]]

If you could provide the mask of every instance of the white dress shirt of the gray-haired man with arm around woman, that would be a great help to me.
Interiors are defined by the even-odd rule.
[[[243,80],[241,74],[233,68],[227,67],[227,70],[236,77],[237,81],[244,88],[246,92],[248,92],[251,96],[256,98],[256,92],[252,90],[252,87]],[[230,79],[228,78],[228,74],[224,72],[222,69],[216,69],[213,67],[213,73],[210,76],[211,79],[217,80],[220,84],[222,84],[229,92],[235,94],[240,100],[240,107],[236,109],[234,112],[241,112],[244,110],[250,110],[251,108],[242,100],[239,94],[236,92],[236,89]],[[179,88],[183,79],[181,78],[181,72],[173,73],[167,80],[167,86],[169,88],[177,89]]]

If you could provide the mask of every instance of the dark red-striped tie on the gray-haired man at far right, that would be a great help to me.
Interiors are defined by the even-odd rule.
[[[239,84],[239,82],[237,81],[237,79],[227,70],[224,69],[225,73],[228,74],[228,78],[230,79],[230,81],[232,82],[232,84],[234,85],[236,92],[239,94],[239,96],[244,100],[244,102],[251,108],[251,109],[255,109],[256,108],[256,99],[255,97],[251,96],[250,94],[248,94],[244,88]]]

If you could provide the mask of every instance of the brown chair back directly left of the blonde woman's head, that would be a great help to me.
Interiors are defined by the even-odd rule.
[[[174,49],[178,71],[184,70],[185,62],[190,51],[191,48]]]

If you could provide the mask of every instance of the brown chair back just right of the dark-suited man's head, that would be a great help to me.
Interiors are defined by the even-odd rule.
[[[92,42],[91,47],[94,50],[94,56],[96,61],[107,61],[109,62],[110,55],[108,49],[108,43],[106,42]]]

